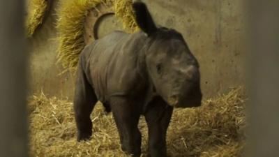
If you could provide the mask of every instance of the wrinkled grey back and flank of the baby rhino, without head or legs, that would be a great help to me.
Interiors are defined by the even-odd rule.
[[[86,75],[98,99],[107,101],[113,94],[125,94],[137,81],[137,52],[144,43],[143,33],[128,34],[115,31],[89,49]]]

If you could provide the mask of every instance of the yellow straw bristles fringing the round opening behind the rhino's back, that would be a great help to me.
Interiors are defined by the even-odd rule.
[[[84,20],[89,10],[99,4],[114,6],[116,16],[123,21],[123,27],[133,32],[136,29],[132,0],[70,0],[61,1],[58,9],[57,30],[59,33],[58,58],[67,70],[75,70],[78,56],[84,48]],[[112,9],[113,9],[112,8]],[[96,8],[96,10],[98,10]]]

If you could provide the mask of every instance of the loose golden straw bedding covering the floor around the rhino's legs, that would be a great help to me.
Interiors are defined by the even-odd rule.
[[[72,103],[38,94],[29,101],[31,156],[128,156],[119,145],[112,114],[96,105],[91,114],[93,137],[76,142]],[[202,107],[174,110],[167,133],[169,156],[241,156],[245,135],[246,96],[243,89],[205,100]],[[146,124],[140,120],[146,156]]]

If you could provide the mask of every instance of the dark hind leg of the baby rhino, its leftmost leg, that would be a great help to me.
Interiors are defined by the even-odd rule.
[[[89,140],[92,135],[92,122],[90,114],[97,102],[96,94],[86,80],[86,76],[80,66],[77,69],[77,81],[75,85],[74,112],[77,124],[77,141]]]

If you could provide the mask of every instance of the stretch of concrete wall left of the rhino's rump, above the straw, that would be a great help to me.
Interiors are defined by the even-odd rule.
[[[31,49],[30,59],[30,94],[43,91],[50,96],[73,96],[74,76],[63,73],[62,66],[57,62],[55,29],[57,2],[54,1],[52,10],[42,25],[29,40]]]

